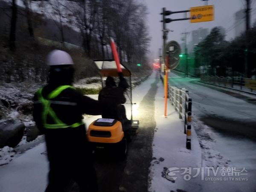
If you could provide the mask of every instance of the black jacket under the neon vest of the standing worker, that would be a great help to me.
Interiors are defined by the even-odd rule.
[[[42,96],[47,98],[52,90],[58,86],[47,85],[42,90]],[[82,114],[101,115],[104,104],[87,96],[83,96],[75,89],[67,88],[57,97],[52,99],[51,108],[56,116],[67,125],[81,122]],[[57,102],[56,102],[57,101]],[[58,102],[64,102],[58,104]],[[79,155],[88,155],[86,129],[84,125],[76,128],[47,129],[42,125],[42,105],[38,102],[37,95],[34,96],[33,118],[40,131],[45,134],[49,160],[60,158],[69,159]],[[47,117],[47,123],[54,123],[51,117]],[[68,153],[68,155],[67,155]],[[65,155],[66,154],[66,155]],[[75,158],[76,159],[76,158]]]

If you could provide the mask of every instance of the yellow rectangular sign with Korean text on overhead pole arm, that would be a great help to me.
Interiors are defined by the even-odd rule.
[[[214,6],[200,6],[190,8],[190,22],[204,22],[214,20]]]

